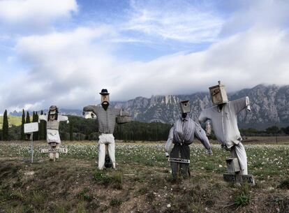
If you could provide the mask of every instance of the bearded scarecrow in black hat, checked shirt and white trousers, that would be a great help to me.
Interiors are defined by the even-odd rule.
[[[89,112],[92,117],[96,116],[98,122],[98,131],[100,133],[98,140],[98,169],[115,168],[114,154],[114,126],[131,122],[131,117],[127,112],[121,109],[110,107],[110,94],[108,89],[101,90],[101,105],[88,105],[83,108],[83,114]],[[89,117],[86,116],[86,118]]]

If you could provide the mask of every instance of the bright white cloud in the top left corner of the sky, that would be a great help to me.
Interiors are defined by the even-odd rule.
[[[0,24],[17,32],[42,31],[54,20],[70,17],[71,12],[77,12],[75,0],[2,0]]]

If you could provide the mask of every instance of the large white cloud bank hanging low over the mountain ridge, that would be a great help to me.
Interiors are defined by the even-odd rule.
[[[103,88],[110,91],[112,101],[121,101],[152,94],[208,91],[218,80],[228,91],[260,83],[286,85],[289,34],[284,27],[286,14],[279,8],[286,5],[264,2],[266,6],[255,3],[241,9],[246,14],[253,8],[256,11],[263,8],[266,13],[256,13],[258,21],[253,24],[246,21],[246,27],[240,31],[234,31],[233,23],[241,22],[242,15],[232,13],[222,25],[222,32],[226,34],[206,50],[189,54],[178,52],[148,62],[124,61],[121,55],[115,54],[126,48],[126,43],[117,43],[123,37],[115,26],[77,27],[20,37],[15,45],[15,57],[22,61],[25,69],[0,85],[0,112],[5,108],[40,110],[52,104],[61,108],[82,108],[98,103],[98,92]],[[248,14],[254,20],[254,13]],[[268,14],[272,22],[267,25],[262,22],[262,16],[270,20],[266,17]],[[164,22],[165,17],[159,18]],[[146,19],[144,26],[148,23]],[[170,30],[171,34],[175,33],[175,29]],[[161,33],[158,36],[165,38]],[[135,38],[131,42],[139,41]]]

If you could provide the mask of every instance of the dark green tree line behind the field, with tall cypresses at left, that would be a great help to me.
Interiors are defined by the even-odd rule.
[[[43,115],[43,111],[40,112]],[[44,114],[45,115],[45,114]],[[83,117],[68,115],[69,124],[61,122],[59,125],[59,134],[61,140],[98,140],[98,124],[96,119],[84,119]],[[3,127],[0,133],[0,140],[25,140],[24,124],[38,122],[38,112],[29,112],[22,110],[21,126],[11,126],[8,124],[7,110],[3,114]],[[145,140],[160,141],[167,140],[171,124],[160,122],[144,123],[130,122],[127,124],[116,124],[114,129],[114,138],[117,140]],[[38,124],[39,131],[34,133],[34,140],[46,140],[46,122],[41,120]],[[255,128],[241,128],[241,135],[245,136],[274,136],[289,135],[289,126],[279,128],[271,126],[263,131]],[[214,133],[212,134],[214,139]]]

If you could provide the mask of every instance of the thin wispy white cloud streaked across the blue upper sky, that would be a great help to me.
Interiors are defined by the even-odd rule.
[[[144,3],[145,2],[145,3]],[[216,41],[223,19],[188,1],[131,1],[123,31],[186,43]]]

